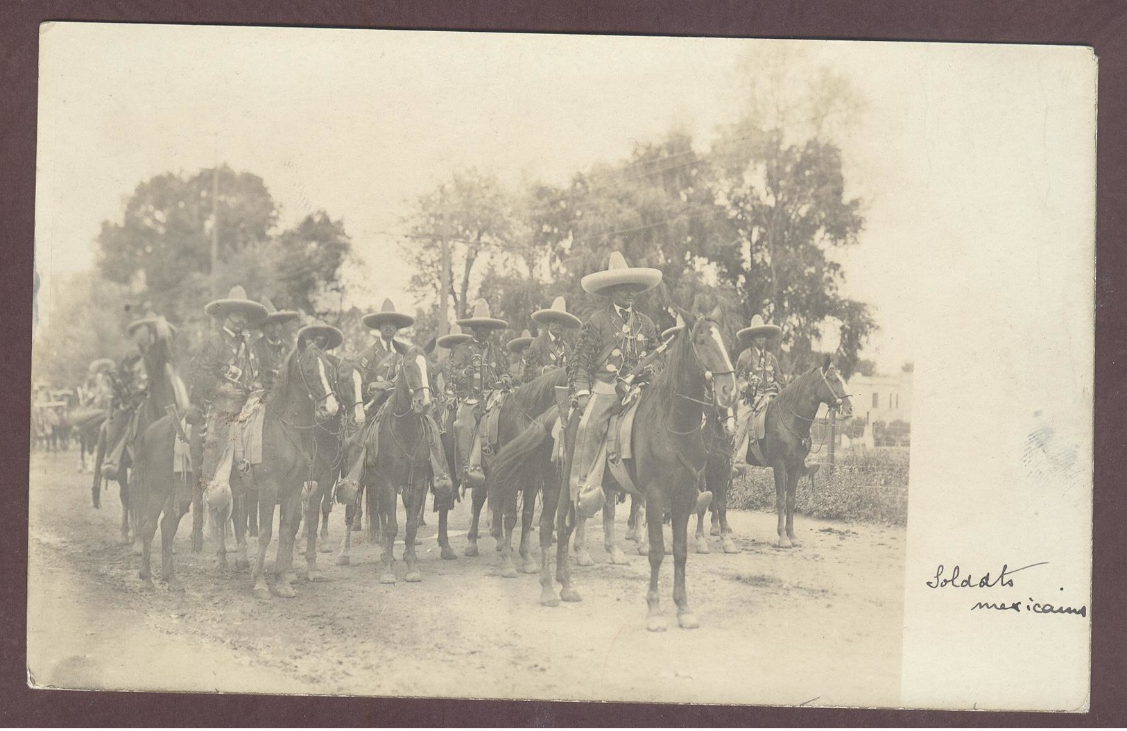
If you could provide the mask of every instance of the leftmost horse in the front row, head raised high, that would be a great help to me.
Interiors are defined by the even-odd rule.
[[[122,501],[121,542],[132,543],[134,555],[140,555],[142,550],[137,532],[139,508],[132,499],[133,490],[130,484],[131,470],[140,453],[136,442],[150,425],[167,416],[168,407],[175,404],[181,410],[188,408],[188,392],[176,367],[172,327],[165,320],[158,320],[151,327],[154,336],[152,345],[145,348],[143,354],[126,358],[123,363],[124,372],[121,374],[126,382],[126,389],[131,391],[130,394],[123,393],[123,398],[135,398],[132,394],[143,395],[133,411],[119,409],[114,413],[107,413],[98,430],[94,481],[90,488],[94,505],[98,507],[103,478],[117,481]],[[104,471],[106,453],[121,439],[125,443],[118,457],[117,472],[106,475]]]

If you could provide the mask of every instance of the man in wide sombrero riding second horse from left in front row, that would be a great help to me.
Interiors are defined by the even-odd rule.
[[[250,345],[250,329],[266,319],[266,307],[247,297],[241,286],[204,307],[215,328],[192,360],[194,419],[205,418],[204,435],[193,429],[192,455],[196,464],[197,496],[206,487],[229,483],[230,474],[215,474],[227,449],[234,447],[231,424],[238,419],[247,396],[258,385],[259,363]],[[195,460],[194,460],[195,461]]]

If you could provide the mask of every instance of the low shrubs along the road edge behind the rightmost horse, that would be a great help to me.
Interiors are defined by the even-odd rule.
[[[774,472],[751,467],[731,482],[728,506],[774,510]],[[871,451],[837,458],[833,474],[827,465],[811,480],[799,480],[797,512],[814,518],[905,525],[908,512],[908,455],[900,451]]]

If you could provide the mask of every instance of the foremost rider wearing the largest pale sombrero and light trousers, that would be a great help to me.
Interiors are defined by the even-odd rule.
[[[606,499],[605,460],[600,458],[600,451],[611,412],[619,402],[615,381],[657,346],[657,327],[647,315],[635,311],[635,297],[660,282],[658,269],[631,267],[618,251],[611,255],[605,271],[588,274],[579,280],[584,291],[611,301],[583,323],[570,368],[573,403],[583,417],[576,434],[569,484],[584,517],[595,515]]]

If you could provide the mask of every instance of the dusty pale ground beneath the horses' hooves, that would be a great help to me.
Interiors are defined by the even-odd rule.
[[[34,455],[28,666],[41,686],[440,695],[694,703],[895,705],[899,693],[903,528],[798,517],[800,549],[773,547],[774,515],[734,512],[739,554],[689,556],[701,627],[676,626],[673,561],[663,565],[669,630],[645,630],[648,562],[573,570],[584,600],[541,607],[535,576],[498,577],[494,541],[465,558],[465,502],[452,514],[456,561],[441,561],[437,517],[419,546],[424,581],[375,582],[375,550],[353,534],[349,567],[321,554],[325,581],[293,599],[257,600],[249,574],[218,572],[211,543],[189,551],[180,525],[183,595],[145,594],[117,541],[116,485],[90,506],[77,455]],[[344,514],[331,517],[331,543]],[[255,550],[254,540],[250,541]],[[273,561],[276,543],[272,546]],[[397,547],[398,551],[401,547]],[[690,549],[692,550],[692,549]],[[159,540],[154,542],[159,572]],[[299,573],[302,559],[295,560]],[[158,585],[159,586],[159,585]]]

